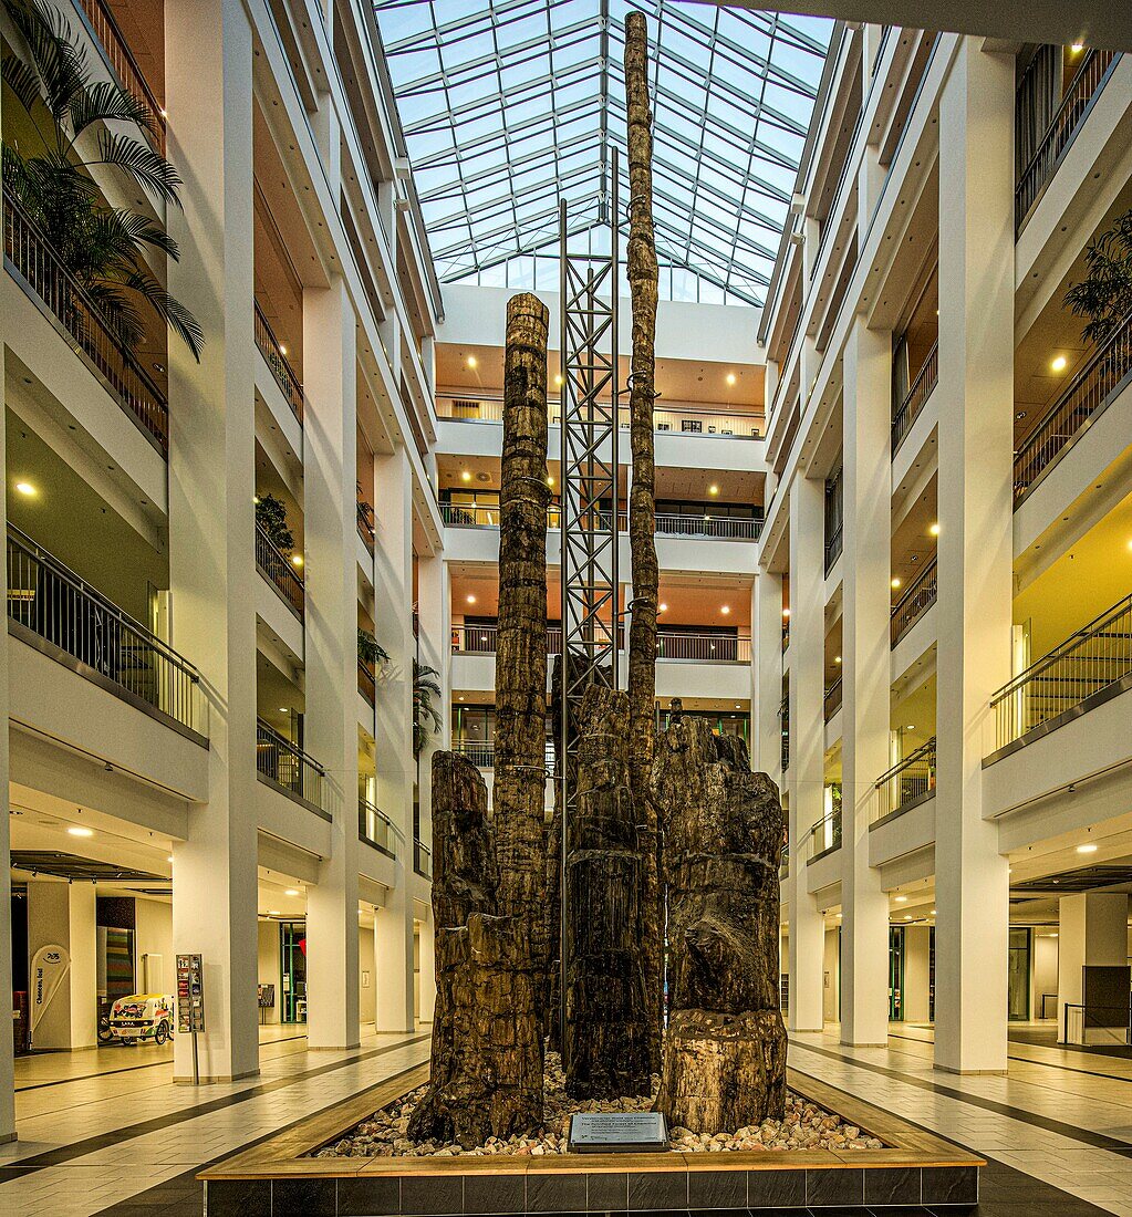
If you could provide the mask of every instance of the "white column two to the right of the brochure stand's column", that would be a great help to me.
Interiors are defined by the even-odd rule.
[[[377,686],[377,806],[397,834],[397,882],[375,922],[377,1031],[411,1031],[413,1009],[413,471],[404,448],[379,455],[374,619],[390,652]]]

